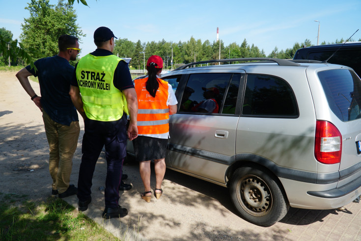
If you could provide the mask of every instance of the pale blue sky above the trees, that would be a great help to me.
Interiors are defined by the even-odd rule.
[[[0,0],[0,27],[19,38],[24,9],[30,0]],[[246,39],[270,54],[292,48],[309,39],[319,43],[347,39],[361,28],[361,0],[86,0],[89,7],[74,3],[82,38],[81,56],[95,49],[93,33],[97,27],[111,28],[118,38],[133,42],[186,42],[193,36],[202,43],[216,40],[217,27],[225,46]],[[221,3],[222,2],[222,3]],[[57,4],[57,0],[50,0]],[[361,29],[353,36],[361,38]]]

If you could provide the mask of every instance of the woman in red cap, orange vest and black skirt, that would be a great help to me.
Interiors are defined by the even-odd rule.
[[[169,115],[177,112],[177,99],[172,86],[159,78],[163,68],[160,56],[152,55],[147,61],[148,77],[134,80],[138,97],[138,138],[133,140],[136,160],[145,191],[141,198],[150,202],[150,161],[154,161],[156,186],[154,196],[163,193],[162,181],[166,173],[166,152],[169,137]]]

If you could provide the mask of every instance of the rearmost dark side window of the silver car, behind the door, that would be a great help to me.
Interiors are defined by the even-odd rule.
[[[298,108],[286,81],[274,76],[248,75],[242,114],[296,118]]]

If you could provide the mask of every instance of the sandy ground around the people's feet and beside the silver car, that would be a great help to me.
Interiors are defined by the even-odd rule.
[[[48,143],[41,112],[30,100],[15,73],[0,72],[0,192],[27,194],[30,199],[42,202],[51,195]],[[31,84],[40,95],[39,85],[35,82]],[[76,186],[81,161],[82,120],[80,124],[81,134],[71,176],[71,183]],[[167,169],[163,196],[159,200],[153,196],[151,202],[146,203],[140,198],[143,186],[138,164],[127,163],[123,171],[129,176],[126,183],[132,184],[133,188],[120,191],[119,203],[128,209],[129,214],[120,219],[105,221],[101,218],[106,176],[104,152],[93,177],[93,201],[84,213],[115,236],[126,240],[298,240],[291,234],[292,230],[299,229],[297,222],[303,220],[302,225],[314,225],[335,213],[334,210],[291,209],[274,226],[258,227],[237,215],[225,187]],[[153,187],[154,173],[151,182]],[[78,208],[76,196],[65,200]],[[313,218],[305,219],[309,215]]]

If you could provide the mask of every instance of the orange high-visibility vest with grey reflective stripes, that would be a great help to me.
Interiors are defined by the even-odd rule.
[[[145,88],[148,78],[134,80],[138,97],[138,134],[164,134],[169,132],[168,82],[159,80],[155,97]]]

